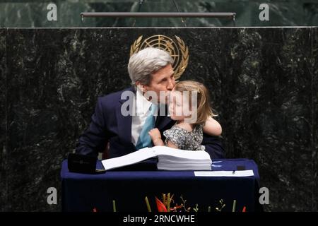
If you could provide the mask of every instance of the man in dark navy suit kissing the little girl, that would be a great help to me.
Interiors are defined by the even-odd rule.
[[[175,121],[163,115],[164,110],[152,115],[151,124],[150,112],[153,102],[167,103],[175,86],[172,64],[170,55],[161,49],[146,48],[133,54],[128,64],[133,86],[98,98],[90,126],[79,138],[76,152],[97,156],[109,142],[107,157],[126,155],[152,146],[148,131],[154,127],[164,139],[163,131],[170,129]],[[145,97],[145,93],[153,93],[153,100]],[[202,144],[212,159],[224,157],[218,137],[204,134]]]

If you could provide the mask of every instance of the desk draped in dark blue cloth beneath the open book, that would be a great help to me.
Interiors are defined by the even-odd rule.
[[[253,169],[252,177],[194,177],[193,171],[110,171],[105,174],[71,173],[64,160],[61,168],[63,211],[111,211],[112,200],[118,212],[146,212],[145,196],[151,208],[155,208],[155,196],[162,193],[175,194],[180,204],[180,195],[187,199],[187,206],[199,205],[199,211],[212,211],[219,207],[222,198],[225,208],[232,211],[232,202],[237,201],[237,211],[246,206],[247,211],[259,210],[259,172],[253,160],[220,159],[213,161],[213,170],[235,170],[237,165]],[[98,167],[101,162],[98,161]]]

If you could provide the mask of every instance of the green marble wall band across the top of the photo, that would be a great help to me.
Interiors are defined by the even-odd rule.
[[[183,12],[235,12],[237,26],[314,26],[318,25],[317,0],[175,0]],[[47,5],[57,4],[57,21],[47,20]],[[174,12],[173,1],[143,1],[140,11]],[[259,5],[269,5],[269,21],[259,20]],[[81,21],[81,12],[137,12],[138,0],[56,0],[56,1],[0,1],[1,28],[78,28],[78,27],[131,27],[165,26],[183,27],[180,18],[86,18]],[[187,18],[187,26],[211,27],[232,26],[232,21],[217,18]]]

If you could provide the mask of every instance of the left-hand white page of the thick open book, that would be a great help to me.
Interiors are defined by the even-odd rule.
[[[157,155],[151,148],[143,148],[141,150],[135,151],[128,155],[110,158],[108,160],[102,160],[102,165],[107,169],[114,169],[126,165],[133,165],[137,162],[147,160],[151,157],[156,157]]]

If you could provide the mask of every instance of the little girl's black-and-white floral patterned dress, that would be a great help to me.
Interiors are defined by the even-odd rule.
[[[203,131],[201,125],[196,125],[194,129],[189,132],[182,129],[177,124],[163,132],[165,136],[165,145],[167,141],[174,143],[179,149],[182,150],[205,150],[204,145],[201,145],[203,140]]]

